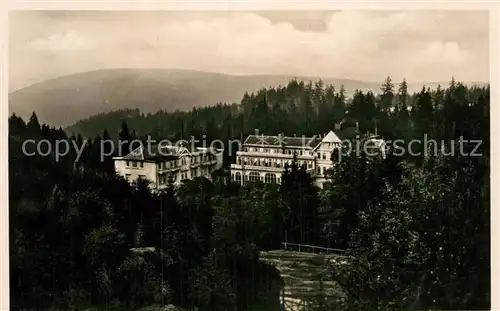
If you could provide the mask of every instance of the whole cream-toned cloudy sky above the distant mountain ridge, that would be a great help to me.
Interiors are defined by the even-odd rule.
[[[487,11],[17,11],[9,90],[106,68],[489,81]]]

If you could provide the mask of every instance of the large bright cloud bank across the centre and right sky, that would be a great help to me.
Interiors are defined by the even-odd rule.
[[[457,66],[464,65],[473,52],[457,42],[419,39],[435,26],[432,18],[412,12],[370,16],[369,12],[344,11],[329,18],[325,31],[306,32],[287,23],[273,24],[257,14],[241,14],[167,23],[162,36],[168,38],[165,48],[175,55],[176,62],[191,61],[205,70],[233,66],[233,70],[247,68],[246,73],[340,73],[351,78],[380,79],[393,62],[411,59],[410,64],[396,64],[400,68],[414,66],[408,70],[414,76],[408,78],[432,79],[418,67],[422,62],[442,61],[442,74],[434,78],[447,79],[454,71],[457,74]],[[404,75],[403,71],[398,73]]]

